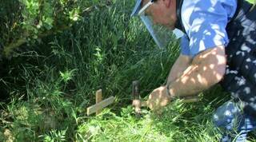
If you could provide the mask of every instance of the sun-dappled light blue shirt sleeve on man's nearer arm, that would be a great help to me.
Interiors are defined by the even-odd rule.
[[[184,53],[189,50],[189,55],[192,57],[206,49],[227,45],[229,42],[226,34],[229,11],[223,2],[216,0],[214,2],[196,2],[186,21],[189,49]]]

